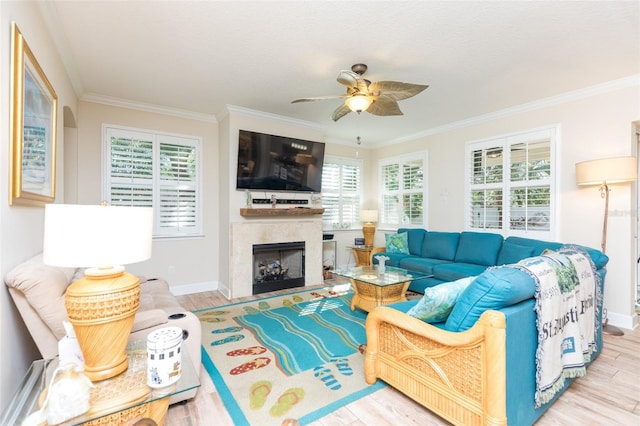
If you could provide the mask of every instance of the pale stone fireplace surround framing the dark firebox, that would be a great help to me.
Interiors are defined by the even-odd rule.
[[[305,242],[305,285],[322,284],[322,221],[245,221],[231,223],[229,297],[253,292],[255,244]]]

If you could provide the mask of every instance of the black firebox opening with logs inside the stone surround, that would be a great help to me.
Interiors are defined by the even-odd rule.
[[[253,245],[253,294],[304,287],[304,241]]]

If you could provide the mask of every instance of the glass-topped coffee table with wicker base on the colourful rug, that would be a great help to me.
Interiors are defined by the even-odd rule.
[[[393,266],[385,267],[381,273],[378,265],[336,269],[333,273],[351,281],[354,291],[351,310],[357,307],[367,312],[376,306],[407,300],[411,281],[433,276]]]

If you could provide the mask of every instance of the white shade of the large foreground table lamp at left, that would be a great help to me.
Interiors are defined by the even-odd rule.
[[[63,267],[108,267],[151,257],[151,207],[47,204],[43,261]]]

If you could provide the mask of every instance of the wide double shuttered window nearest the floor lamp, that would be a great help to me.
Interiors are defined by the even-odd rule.
[[[467,144],[468,229],[553,237],[556,133],[548,128]]]

